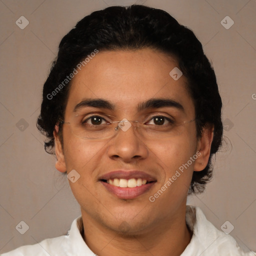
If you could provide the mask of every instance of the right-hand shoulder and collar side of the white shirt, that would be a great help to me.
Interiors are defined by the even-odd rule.
[[[255,256],[254,252],[244,252],[235,239],[218,230],[208,221],[199,207],[187,205],[186,222],[193,235],[187,245],[187,252],[191,251],[194,255],[225,255],[225,256]],[[184,252],[185,252],[184,251]],[[182,256],[190,254],[182,254]]]

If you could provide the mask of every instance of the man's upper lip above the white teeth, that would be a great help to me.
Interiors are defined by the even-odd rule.
[[[114,171],[105,173],[99,177],[100,180],[102,179],[108,180],[113,178],[124,178],[124,179],[141,178],[141,179],[146,179],[147,181],[156,181],[154,177],[140,170],[114,170]]]

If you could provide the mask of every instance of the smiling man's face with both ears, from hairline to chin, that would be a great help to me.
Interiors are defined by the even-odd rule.
[[[182,132],[167,131],[173,120],[180,124],[195,118],[185,77],[169,75],[174,67],[174,58],[149,48],[102,51],[72,79],[63,150],[55,133],[56,168],[79,173],[75,182],[69,180],[70,187],[82,216],[99,226],[135,233],[177,218],[193,170],[207,164],[212,132],[197,139],[194,121],[174,125]],[[74,129],[123,118],[130,122],[110,125],[111,136],[100,139],[83,138],[85,133]],[[158,131],[161,125],[167,128]]]

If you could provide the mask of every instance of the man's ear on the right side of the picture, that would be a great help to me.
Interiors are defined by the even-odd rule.
[[[209,159],[210,146],[213,139],[213,125],[206,125],[202,130],[202,135],[197,141],[197,158],[194,164],[194,171],[203,170]]]

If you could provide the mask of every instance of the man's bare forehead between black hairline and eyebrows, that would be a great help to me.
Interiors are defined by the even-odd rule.
[[[72,78],[66,113],[83,98],[103,98],[120,111],[135,111],[145,100],[164,97],[177,101],[192,115],[186,79],[181,75],[174,80],[169,74],[173,68],[177,68],[173,57],[150,48],[99,51]]]

